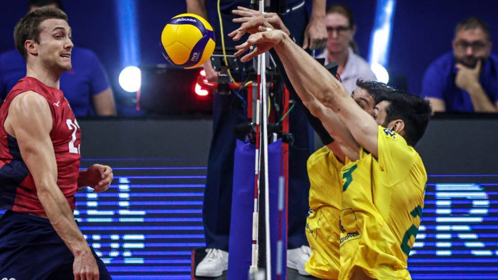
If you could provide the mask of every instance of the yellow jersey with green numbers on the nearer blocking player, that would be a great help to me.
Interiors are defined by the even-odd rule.
[[[347,163],[340,220],[340,280],[357,269],[373,279],[408,280],[407,258],[424,207],[422,159],[396,133],[378,127],[378,158],[360,149]]]

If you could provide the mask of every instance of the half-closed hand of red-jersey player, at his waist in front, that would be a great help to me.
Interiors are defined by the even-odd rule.
[[[95,192],[106,191],[113,181],[113,169],[108,165],[94,164],[80,173],[81,186],[89,186]]]

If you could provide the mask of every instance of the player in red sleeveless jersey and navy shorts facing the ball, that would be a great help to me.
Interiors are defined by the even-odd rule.
[[[71,69],[67,15],[42,7],[15,26],[26,77],[0,108],[0,277],[16,280],[111,279],[73,217],[75,193],[105,191],[111,167],[80,167],[80,128],[59,90]]]

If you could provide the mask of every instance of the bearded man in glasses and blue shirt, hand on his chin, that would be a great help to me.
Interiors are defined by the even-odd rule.
[[[475,17],[457,24],[453,51],[426,70],[421,96],[433,112],[498,112],[498,56],[489,25]]]

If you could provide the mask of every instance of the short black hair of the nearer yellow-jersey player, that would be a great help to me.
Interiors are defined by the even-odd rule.
[[[419,96],[408,94],[403,91],[392,91],[382,96],[378,102],[388,101],[385,108],[384,127],[394,120],[402,120],[404,126],[404,139],[410,146],[422,138],[431,118],[431,106],[429,101]]]

